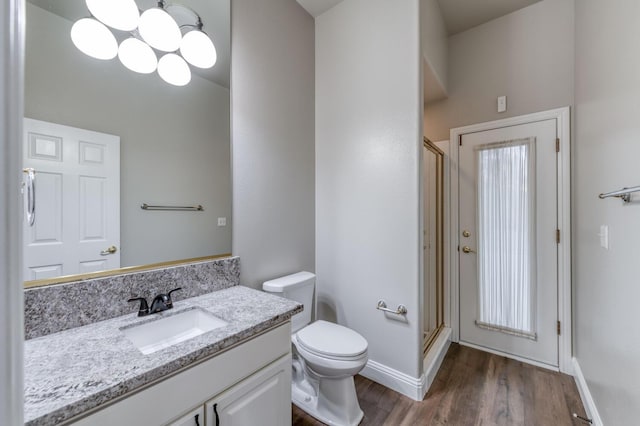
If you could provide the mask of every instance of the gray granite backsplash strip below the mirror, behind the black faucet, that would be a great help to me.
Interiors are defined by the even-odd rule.
[[[111,277],[27,289],[24,292],[25,339],[44,336],[138,311],[132,297],[151,300],[176,287],[175,300],[240,284],[240,259],[195,262]]]

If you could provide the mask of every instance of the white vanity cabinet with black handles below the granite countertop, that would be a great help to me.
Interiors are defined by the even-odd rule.
[[[71,423],[216,426],[214,406],[219,426],[291,424],[290,322]]]

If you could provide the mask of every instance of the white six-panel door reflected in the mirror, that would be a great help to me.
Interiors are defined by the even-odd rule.
[[[120,267],[120,138],[24,119],[35,221],[24,220],[24,278]]]

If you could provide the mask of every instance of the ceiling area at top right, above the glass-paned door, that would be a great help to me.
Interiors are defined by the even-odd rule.
[[[449,35],[508,15],[540,0],[437,0]]]

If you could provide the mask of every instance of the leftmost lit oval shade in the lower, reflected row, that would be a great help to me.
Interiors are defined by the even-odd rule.
[[[71,40],[84,54],[96,59],[113,59],[118,42],[104,24],[93,18],[82,18],[71,27]]]

